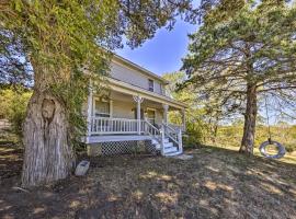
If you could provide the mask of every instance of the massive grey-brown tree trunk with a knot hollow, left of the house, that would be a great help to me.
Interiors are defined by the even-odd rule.
[[[73,152],[65,106],[50,93],[35,90],[24,123],[22,185],[46,184],[67,177]]]

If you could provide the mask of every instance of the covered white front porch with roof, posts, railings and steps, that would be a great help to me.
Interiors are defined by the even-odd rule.
[[[182,151],[184,105],[152,92],[148,95],[117,89],[113,88],[105,96],[90,93],[87,105],[88,145],[150,140],[162,154],[172,151],[169,147]],[[179,111],[183,123],[170,125],[170,111]]]

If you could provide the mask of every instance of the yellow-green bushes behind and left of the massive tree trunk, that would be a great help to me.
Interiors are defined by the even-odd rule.
[[[21,88],[0,91],[0,117],[9,119],[12,132],[19,138],[22,137],[22,125],[31,95],[31,91]]]

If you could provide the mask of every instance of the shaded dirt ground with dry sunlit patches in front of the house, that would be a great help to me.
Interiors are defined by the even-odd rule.
[[[22,150],[0,146],[0,218],[296,218],[296,160],[186,153],[89,158],[87,176],[23,192]]]

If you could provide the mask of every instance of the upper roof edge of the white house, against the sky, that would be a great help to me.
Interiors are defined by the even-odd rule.
[[[140,66],[137,65],[137,64],[134,64],[133,61],[129,61],[129,60],[126,59],[126,58],[123,58],[122,56],[118,56],[118,55],[114,54],[113,60],[119,61],[119,62],[122,62],[123,65],[128,66],[129,68],[133,68],[133,69],[135,69],[135,70],[138,70],[138,71],[140,71],[141,73],[144,73],[144,74],[146,74],[146,76],[148,76],[148,77],[150,77],[150,78],[153,78],[153,79],[157,79],[157,80],[163,82],[164,84],[169,84],[169,83],[170,83],[168,80],[163,79],[162,77],[160,77],[160,76],[158,76],[158,74],[156,74],[156,73],[153,73],[153,72],[151,72],[151,71],[149,71],[149,70],[147,70],[147,69],[145,69],[145,68],[143,68],[143,67],[140,67]]]

